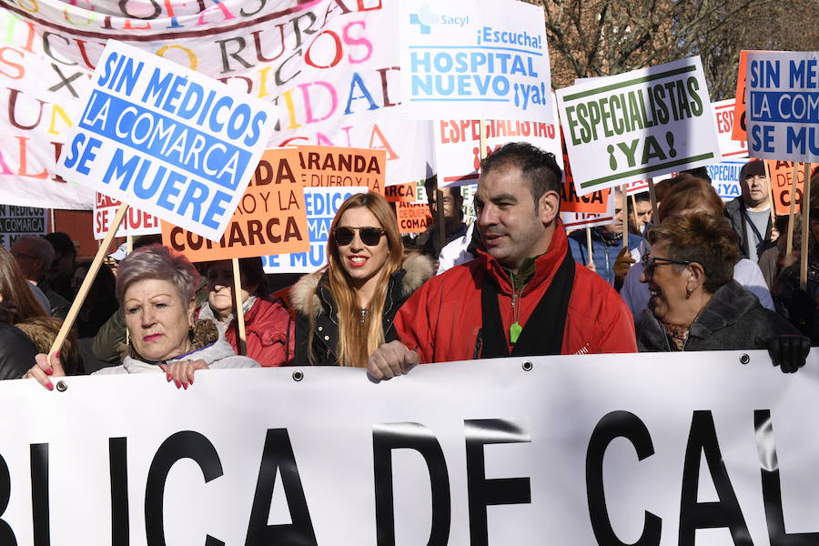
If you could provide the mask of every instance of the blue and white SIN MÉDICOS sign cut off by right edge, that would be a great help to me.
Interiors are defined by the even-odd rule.
[[[748,53],[751,157],[819,162],[819,51]]]

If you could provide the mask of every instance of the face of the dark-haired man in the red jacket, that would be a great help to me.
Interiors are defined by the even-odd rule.
[[[481,175],[475,194],[478,231],[492,258],[508,268],[518,268],[526,258],[549,249],[555,207],[547,206],[547,192],[536,207],[530,184],[521,169],[509,167]]]

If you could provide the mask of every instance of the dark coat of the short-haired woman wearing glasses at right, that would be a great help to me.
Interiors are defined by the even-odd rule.
[[[732,280],[705,304],[683,350],[767,349],[768,341],[780,335],[799,335],[799,331]],[[650,309],[643,311],[637,325],[637,346],[640,352],[671,350],[665,330]]]

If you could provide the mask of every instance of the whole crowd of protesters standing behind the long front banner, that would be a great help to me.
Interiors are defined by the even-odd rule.
[[[194,265],[137,239],[97,273],[50,359],[89,265],[66,234],[20,238],[0,248],[0,378],[53,389],[63,375],[161,372],[187,389],[199,369],[338,365],[389,379],[420,363],[638,350],[767,349],[784,372],[804,365],[819,343],[816,171],[816,198],[794,217],[810,223],[806,289],[760,161],[726,206],[704,170],[658,183],[656,218],[648,196],[628,207],[612,192],[614,222],[591,248],[561,223],[561,177],[551,154],[507,144],[481,164],[476,221],[463,223],[459,192],[433,185],[444,223],[415,239],[384,197],[355,194],[333,218],[328,265],[275,293],[260,258],[239,260],[234,294],[230,261]]]

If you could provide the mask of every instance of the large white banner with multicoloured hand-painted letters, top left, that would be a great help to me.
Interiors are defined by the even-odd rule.
[[[268,147],[379,148],[388,184],[428,177],[431,126],[399,115],[398,9],[382,0],[2,2],[0,203],[93,207],[93,191],[54,169],[108,38],[271,103]]]

